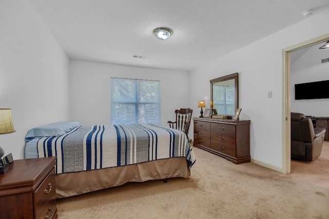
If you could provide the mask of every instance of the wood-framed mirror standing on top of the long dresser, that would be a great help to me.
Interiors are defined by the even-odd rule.
[[[233,116],[239,102],[239,75],[234,73],[210,80],[211,112]],[[215,109],[215,111],[214,111]]]

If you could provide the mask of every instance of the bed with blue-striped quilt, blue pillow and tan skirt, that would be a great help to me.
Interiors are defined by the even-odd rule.
[[[57,157],[57,198],[126,182],[188,178],[195,162],[186,134],[160,124],[63,121],[35,127],[25,140],[25,158]]]

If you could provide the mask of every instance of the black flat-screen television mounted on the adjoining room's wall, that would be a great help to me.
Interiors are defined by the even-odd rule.
[[[295,100],[329,98],[329,80],[295,84]]]

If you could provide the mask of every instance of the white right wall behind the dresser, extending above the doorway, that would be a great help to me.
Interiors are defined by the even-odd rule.
[[[282,49],[329,32],[328,20],[329,11],[326,10],[191,71],[190,105],[196,105],[198,100],[205,99],[209,106],[209,80],[239,72],[239,107],[242,108],[240,119],[251,120],[251,158],[257,163],[281,171]],[[267,98],[268,91],[272,91],[272,98]]]

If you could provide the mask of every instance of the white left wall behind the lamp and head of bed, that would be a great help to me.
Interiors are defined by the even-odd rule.
[[[68,119],[68,64],[29,1],[0,1],[0,107],[16,130],[0,135],[5,155],[23,159],[29,129]]]

